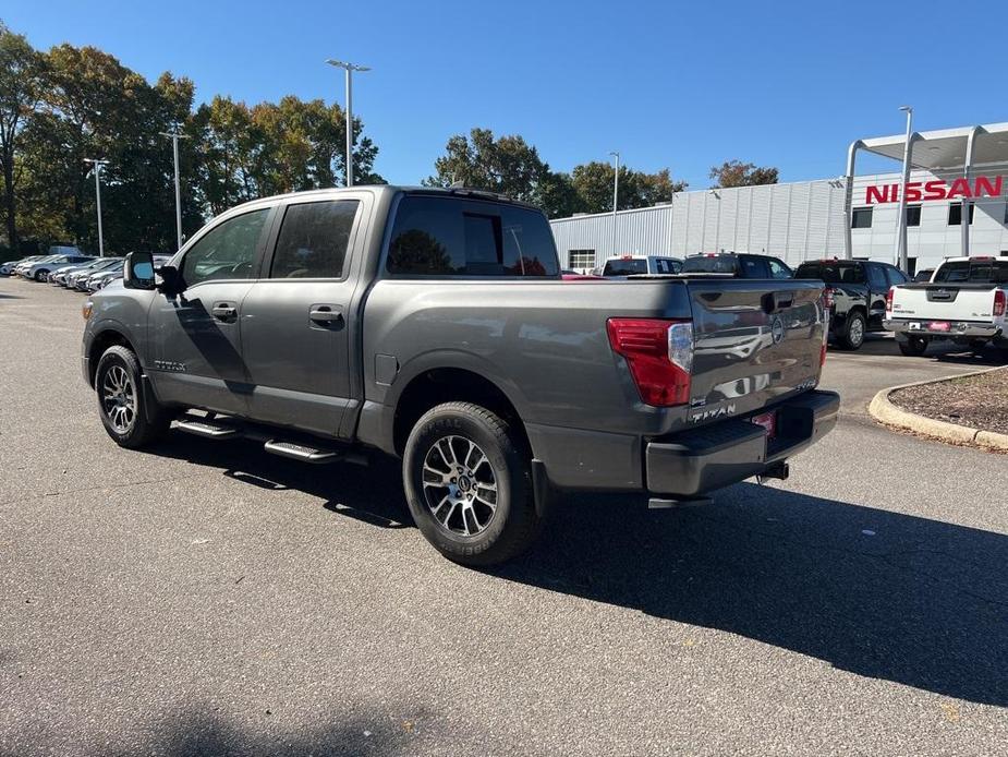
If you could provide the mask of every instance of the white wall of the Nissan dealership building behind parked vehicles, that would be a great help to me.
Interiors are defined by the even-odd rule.
[[[1006,192],[976,201],[970,229],[971,254],[1008,254],[1008,166],[974,169],[974,176],[999,175],[1006,177]],[[914,171],[911,181],[940,178],[951,183],[959,176],[961,172]],[[853,207],[866,206],[870,185],[899,180],[896,172],[857,177]],[[721,250],[766,253],[797,265],[813,257],[843,256],[848,224],[845,203],[843,179],[679,192],[670,204],[617,214],[615,247],[611,213],[560,218],[550,224],[564,267],[570,250],[594,250],[596,266],[612,255],[683,257]],[[933,267],[961,250],[960,227],[948,225],[949,201],[920,204],[921,225],[910,227],[907,233],[909,255],[916,259],[918,269]],[[897,213],[897,203],[873,205],[871,228],[851,229],[854,257],[892,261]]]

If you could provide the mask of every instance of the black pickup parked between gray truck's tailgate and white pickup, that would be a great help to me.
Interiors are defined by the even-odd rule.
[[[860,349],[867,332],[881,332],[889,287],[910,278],[895,265],[874,261],[809,261],[798,266],[794,278],[826,283],[831,301],[829,338],[846,349]]]

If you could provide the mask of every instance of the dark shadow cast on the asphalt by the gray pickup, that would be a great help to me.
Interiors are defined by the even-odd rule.
[[[413,525],[396,460],[315,468],[189,437],[158,453],[309,493],[381,528]],[[485,573],[1006,707],[1006,565],[1001,533],[741,483],[678,510],[647,510],[635,496],[566,496],[529,554]]]

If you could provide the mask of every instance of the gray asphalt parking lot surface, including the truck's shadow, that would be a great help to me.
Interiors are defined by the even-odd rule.
[[[0,279],[0,755],[997,754],[1008,456],[878,428],[993,364],[831,352],[842,418],[715,504],[563,503],[488,572],[392,464],[116,447],[82,296]]]

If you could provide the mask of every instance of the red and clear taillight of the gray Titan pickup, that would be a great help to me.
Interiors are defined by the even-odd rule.
[[[627,359],[646,405],[670,407],[690,401],[693,324],[658,319],[609,319],[612,351]]]

